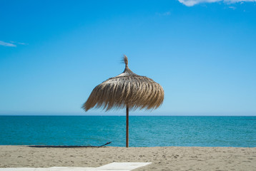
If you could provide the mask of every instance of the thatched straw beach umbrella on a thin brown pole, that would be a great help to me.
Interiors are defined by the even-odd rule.
[[[156,109],[164,100],[164,89],[151,78],[139,76],[128,68],[128,58],[124,56],[124,72],[109,78],[92,90],[82,108],[126,108],[126,147],[129,147],[129,110]]]

